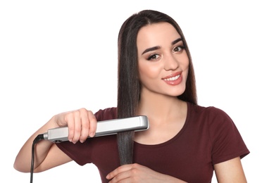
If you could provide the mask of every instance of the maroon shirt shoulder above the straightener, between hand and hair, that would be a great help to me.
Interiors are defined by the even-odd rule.
[[[96,120],[112,120],[118,118],[118,110],[116,107],[100,109],[94,113]]]

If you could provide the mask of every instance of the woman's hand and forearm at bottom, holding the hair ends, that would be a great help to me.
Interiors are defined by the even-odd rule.
[[[111,179],[110,183],[115,182],[183,182],[175,177],[163,175],[137,163],[122,165],[110,172],[106,179]]]

